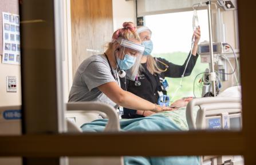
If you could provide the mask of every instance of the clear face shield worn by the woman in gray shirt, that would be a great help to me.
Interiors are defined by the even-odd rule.
[[[117,42],[121,46],[120,54],[116,57],[117,65],[125,71],[126,78],[135,81],[145,47],[125,39],[117,39]]]

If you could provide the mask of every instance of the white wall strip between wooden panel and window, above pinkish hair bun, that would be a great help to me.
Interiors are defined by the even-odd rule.
[[[112,0],[112,5],[114,31],[123,27],[124,22],[133,22],[136,24],[135,1]]]

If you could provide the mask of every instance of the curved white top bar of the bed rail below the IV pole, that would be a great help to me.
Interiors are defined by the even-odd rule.
[[[186,118],[190,130],[196,130],[196,122],[193,115],[193,107],[200,106],[201,108],[207,106],[207,110],[216,110],[222,108],[242,108],[241,98],[225,98],[225,97],[207,97],[192,99],[186,108]]]

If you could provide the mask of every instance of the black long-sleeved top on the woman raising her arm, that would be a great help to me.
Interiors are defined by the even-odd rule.
[[[165,77],[170,77],[170,78],[182,77],[188,58],[189,58],[189,54],[182,66],[175,65],[174,63],[168,62],[166,59],[163,59],[163,58],[156,58],[157,66],[159,66],[160,69],[166,70],[166,66],[164,66],[163,63],[165,63],[169,67],[167,71],[164,71],[160,74],[154,74],[154,75],[149,73],[149,71],[147,70],[147,63],[141,63],[141,65],[144,68],[144,71],[142,71],[141,75],[138,77],[138,80],[141,82],[141,85],[135,86],[135,81],[131,81],[129,79],[127,79],[126,82],[124,83],[125,80],[120,79],[120,81],[123,82],[121,83],[121,87],[125,89],[124,84],[126,84],[127,91],[132,92],[133,94],[145,100],[148,100],[149,102],[157,103],[157,100],[159,99],[159,95],[157,91],[161,91],[161,86],[160,86],[161,84],[160,84],[159,78],[161,77],[164,79]],[[188,75],[191,74],[192,70],[194,69],[196,59],[198,59],[198,54],[196,54],[195,56],[191,55],[184,77],[187,77]],[[160,63],[159,61],[163,63]],[[132,119],[132,118],[143,118],[144,116],[137,115],[136,110],[124,108],[124,115],[122,115],[121,117],[123,119]]]

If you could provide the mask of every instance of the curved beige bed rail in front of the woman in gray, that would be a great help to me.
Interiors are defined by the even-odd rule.
[[[66,104],[67,111],[83,112],[83,113],[98,113],[108,116],[108,123],[104,131],[113,132],[120,131],[119,115],[115,108],[105,103],[100,102],[69,102]]]

